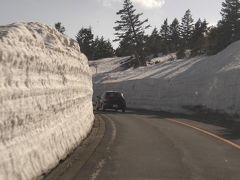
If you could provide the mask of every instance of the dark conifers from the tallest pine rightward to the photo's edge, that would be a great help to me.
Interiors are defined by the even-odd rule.
[[[150,35],[144,33],[146,29],[144,23],[147,20],[140,21],[139,17],[142,13],[136,14],[135,11],[131,1],[125,0],[123,9],[117,12],[121,20],[116,21],[118,26],[114,28],[117,40],[120,41],[116,50],[118,56],[135,55],[136,52],[141,54],[142,62],[136,61],[135,66],[145,65],[146,56],[158,56],[159,53],[177,52],[178,58],[184,58],[186,50],[190,50],[191,56],[216,54],[230,43],[240,39],[239,0],[225,0],[222,3],[222,19],[216,26],[208,27],[205,19],[194,22],[191,11],[188,9],[181,21],[175,18],[169,23],[168,19],[165,19],[162,26],[159,29],[154,28]],[[133,36],[135,29],[141,30],[137,38]]]

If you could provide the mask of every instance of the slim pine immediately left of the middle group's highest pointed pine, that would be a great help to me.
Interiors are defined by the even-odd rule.
[[[169,31],[170,52],[175,52],[180,46],[180,26],[177,18],[171,23]]]

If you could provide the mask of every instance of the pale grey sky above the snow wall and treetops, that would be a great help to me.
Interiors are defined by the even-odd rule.
[[[194,20],[206,19],[214,25],[221,19],[221,3],[224,0],[132,0],[141,19],[148,18],[151,29],[158,29],[164,19],[181,20],[187,9]],[[122,9],[123,0],[0,0],[0,25],[14,22],[40,22],[54,26],[61,22],[65,34],[75,38],[82,27],[92,27],[96,36],[114,39],[116,12]],[[114,44],[116,47],[117,44]]]

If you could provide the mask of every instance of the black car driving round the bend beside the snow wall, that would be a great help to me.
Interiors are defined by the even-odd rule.
[[[117,91],[106,91],[101,96],[97,96],[96,110],[102,109],[121,109],[126,110],[126,101],[123,93]]]

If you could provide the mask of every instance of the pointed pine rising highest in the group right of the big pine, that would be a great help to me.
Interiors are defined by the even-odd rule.
[[[193,33],[193,18],[191,15],[190,9],[185,12],[185,15],[182,18],[182,22],[180,25],[180,32],[181,32],[181,39],[182,39],[182,46],[184,48],[190,48],[190,40]]]

